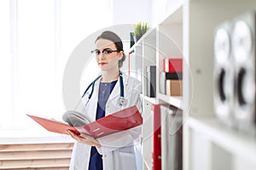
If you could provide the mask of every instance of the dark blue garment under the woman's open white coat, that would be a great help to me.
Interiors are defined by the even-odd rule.
[[[105,116],[106,104],[111,94],[114,85],[117,81],[114,82],[101,82],[98,95],[98,104],[96,111],[96,120]],[[90,150],[90,161],[89,161],[89,170],[102,170],[102,155],[98,153],[95,146],[91,146]]]

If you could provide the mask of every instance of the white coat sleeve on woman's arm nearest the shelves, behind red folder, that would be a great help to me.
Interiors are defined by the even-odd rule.
[[[137,109],[142,113],[142,99],[141,99],[142,87],[140,83],[132,89],[131,94],[129,95],[131,99],[131,105],[137,105]],[[102,144],[101,147],[96,149],[100,154],[117,150],[121,147],[136,144],[139,142],[142,133],[142,126],[133,127],[131,129],[121,131],[119,133],[112,133],[108,136],[99,138],[98,141]]]

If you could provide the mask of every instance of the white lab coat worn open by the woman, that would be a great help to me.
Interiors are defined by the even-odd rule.
[[[119,105],[120,87],[119,80],[116,82],[112,93],[108,98],[106,105],[106,116],[113,112],[120,111],[132,105],[137,105],[139,111],[142,111],[142,85],[137,79],[127,77],[123,73],[124,93],[126,105]],[[83,113],[90,119],[91,122],[96,120],[96,108],[98,100],[98,89],[100,80],[96,81],[94,93],[91,96],[87,105],[84,105]],[[91,88],[90,88],[91,90]],[[83,98],[83,103],[86,104],[88,91]],[[141,126],[134,127],[119,133],[113,133],[108,137],[102,137],[99,142],[102,147],[96,147],[98,152],[102,154],[104,170],[140,170],[142,169],[142,156],[140,149],[139,138],[141,135]],[[112,138],[110,141],[110,137]],[[75,142],[73,154],[70,164],[70,170],[87,170],[90,161],[90,145]]]

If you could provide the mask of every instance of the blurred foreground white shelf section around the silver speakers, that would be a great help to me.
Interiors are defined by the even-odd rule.
[[[183,54],[189,65],[183,70],[184,170],[256,169],[256,139],[218,121],[212,87],[214,30],[252,9],[253,0],[190,0],[183,5]]]

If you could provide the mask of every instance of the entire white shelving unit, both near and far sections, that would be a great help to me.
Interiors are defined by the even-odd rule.
[[[166,0],[165,3],[166,14],[161,14],[154,28],[131,48],[142,57],[142,75],[146,75],[146,66],[157,67],[155,98],[146,96],[147,80],[141,77],[146,122],[143,127],[143,169],[152,169],[154,120],[151,107],[160,103],[183,111],[184,170],[256,169],[256,139],[219,123],[212,101],[214,30],[224,20],[255,10],[255,1]],[[182,97],[159,92],[164,58],[183,58]]]

